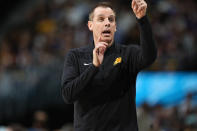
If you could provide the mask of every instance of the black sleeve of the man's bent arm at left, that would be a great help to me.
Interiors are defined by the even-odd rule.
[[[69,51],[65,58],[61,81],[64,101],[70,104],[79,99],[97,71],[98,68],[92,64],[82,74],[79,74],[76,55],[73,51]]]

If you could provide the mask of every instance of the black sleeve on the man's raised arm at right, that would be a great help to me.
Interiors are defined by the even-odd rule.
[[[157,57],[156,44],[148,18],[144,16],[138,19],[140,30],[140,45],[130,46],[129,51],[129,72],[139,72],[149,66]]]

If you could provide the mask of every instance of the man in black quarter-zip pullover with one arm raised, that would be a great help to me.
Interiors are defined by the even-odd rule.
[[[153,63],[156,47],[146,2],[133,0],[131,7],[139,23],[140,46],[114,43],[115,12],[99,3],[88,21],[94,43],[67,53],[61,89],[65,102],[74,103],[75,131],[138,131],[136,77]]]

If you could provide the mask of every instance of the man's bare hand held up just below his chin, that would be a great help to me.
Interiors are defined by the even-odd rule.
[[[100,38],[99,38],[100,39]],[[106,42],[98,42],[95,44],[93,50],[93,65],[99,67],[104,59],[104,53],[107,49],[108,44]]]

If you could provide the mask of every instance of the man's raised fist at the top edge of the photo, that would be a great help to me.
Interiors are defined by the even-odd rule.
[[[147,3],[144,0],[132,0],[131,8],[138,19],[146,15]]]

